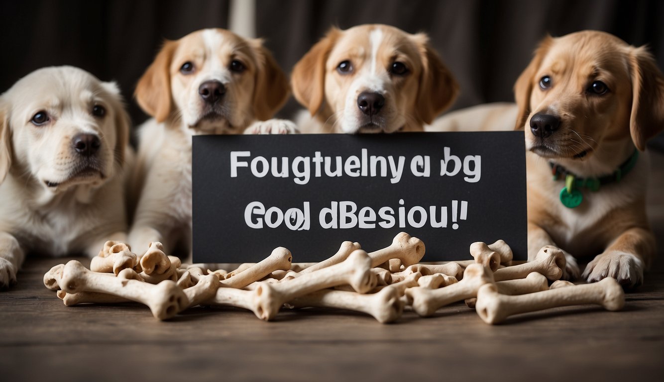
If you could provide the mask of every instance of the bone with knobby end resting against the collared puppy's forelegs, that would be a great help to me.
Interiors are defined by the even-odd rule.
[[[537,253],[535,260],[529,263],[498,269],[493,273],[495,281],[523,279],[530,273],[537,272],[549,280],[558,280],[565,269],[565,255],[556,247],[546,245]]]

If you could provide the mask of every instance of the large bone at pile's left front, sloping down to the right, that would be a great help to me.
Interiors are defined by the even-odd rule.
[[[189,306],[187,296],[174,281],[151,285],[137,280],[108,277],[103,273],[88,271],[76,260],[64,265],[58,284],[67,293],[100,292],[141,302],[159,320],[171,318]]]

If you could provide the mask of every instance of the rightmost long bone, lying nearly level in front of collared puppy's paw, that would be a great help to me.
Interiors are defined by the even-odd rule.
[[[475,308],[484,322],[498,324],[514,314],[580,304],[598,304],[604,306],[606,310],[621,310],[625,304],[625,292],[612,277],[594,284],[556,288],[519,296],[499,294],[495,285],[485,285],[477,292]]]

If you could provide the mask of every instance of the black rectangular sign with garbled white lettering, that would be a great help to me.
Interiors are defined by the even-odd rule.
[[[405,231],[422,261],[505,240],[527,259],[523,131],[193,138],[193,259],[243,263],[286,247],[326,259]]]

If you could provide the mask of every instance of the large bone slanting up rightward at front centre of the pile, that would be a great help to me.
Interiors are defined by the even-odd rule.
[[[356,292],[372,290],[378,281],[371,272],[371,257],[362,249],[353,251],[345,261],[306,273],[284,283],[258,283],[255,293],[258,318],[272,320],[284,303],[299,296],[337,285],[349,284]]]

